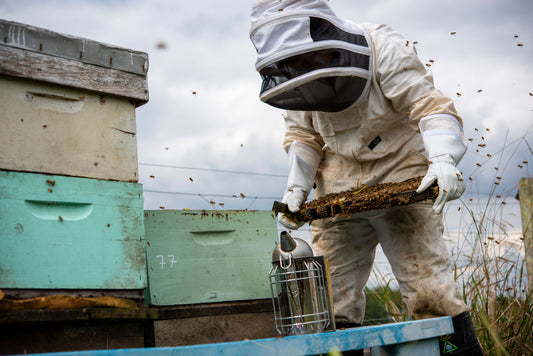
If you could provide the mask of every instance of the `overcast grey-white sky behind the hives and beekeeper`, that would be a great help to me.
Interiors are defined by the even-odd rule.
[[[283,193],[287,160],[282,112],[258,99],[252,3],[0,0],[0,18],[148,53],[150,101],[137,109],[145,209],[269,210]],[[459,166],[469,184],[462,202],[476,206],[492,191],[493,209],[519,229],[518,180],[533,173],[523,163],[533,162],[533,1],[330,5],[339,17],[386,23],[418,42],[472,139]],[[448,221],[460,205],[449,206]]]

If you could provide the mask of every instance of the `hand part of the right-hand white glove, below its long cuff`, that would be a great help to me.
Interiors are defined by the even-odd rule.
[[[422,193],[435,181],[439,184],[439,196],[433,204],[433,210],[440,214],[447,201],[459,198],[466,189],[461,172],[455,167],[455,162],[449,154],[431,159],[428,172],[416,192]]]

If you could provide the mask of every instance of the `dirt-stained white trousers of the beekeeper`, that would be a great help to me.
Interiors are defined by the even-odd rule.
[[[441,216],[431,206],[422,202],[312,223],[313,248],[329,261],[337,322],[363,323],[363,288],[378,243],[414,319],[467,310],[451,270]]]

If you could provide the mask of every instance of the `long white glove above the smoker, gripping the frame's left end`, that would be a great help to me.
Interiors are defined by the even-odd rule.
[[[291,212],[296,213],[300,211],[300,206],[305,202],[313,188],[320,156],[298,141],[292,143],[288,155],[289,178],[281,202],[287,204]],[[278,214],[278,221],[291,230],[297,230],[304,225],[304,222],[291,220],[283,213]]]

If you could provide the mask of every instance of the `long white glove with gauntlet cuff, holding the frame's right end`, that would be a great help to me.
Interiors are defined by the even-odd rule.
[[[440,214],[446,202],[459,198],[466,189],[463,176],[457,169],[466,152],[463,128],[455,116],[447,114],[425,117],[418,126],[429,167],[416,192],[422,193],[437,181],[439,195],[433,210]]]

